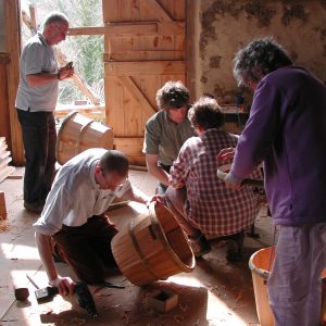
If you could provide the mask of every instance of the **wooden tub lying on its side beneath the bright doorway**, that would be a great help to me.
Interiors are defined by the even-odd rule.
[[[59,127],[57,161],[62,165],[89,148],[112,149],[112,128],[73,111],[63,118]]]

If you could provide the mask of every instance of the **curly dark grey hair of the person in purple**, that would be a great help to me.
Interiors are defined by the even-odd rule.
[[[239,86],[259,83],[265,75],[293,62],[274,38],[255,39],[236,53],[234,76]]]

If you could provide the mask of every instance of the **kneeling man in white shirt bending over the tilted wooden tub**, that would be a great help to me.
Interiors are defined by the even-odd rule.
[[[130,185],[128,168],[124,153],[89,149],[59,171],[34,226],[49,283],[59,288],[60,294],[72,294],[75,284],[58,274],[53,256],[66,262],[88,284],[105,281],[105,267],[116,266],[111,239],[117,229],[105,212],[114,197],[124,195],[145,204],[149,200]]]

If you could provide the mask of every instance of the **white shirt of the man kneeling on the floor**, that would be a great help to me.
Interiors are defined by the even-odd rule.
[[[105,152],[104,149],[89,149],[61,167],[42,214],[34,224],[37,231],[53,235],[62,225],[84,225],[92,215],[105,212],[114,197],[122,197],[130,189],[129,180],[114,191],[99,188],[95,179],[95,168]]]

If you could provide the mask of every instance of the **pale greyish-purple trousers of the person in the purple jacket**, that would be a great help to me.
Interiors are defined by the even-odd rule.
[[[316,326],[321,321],[326,223],[281,226],[267,280],[275,326]]]

